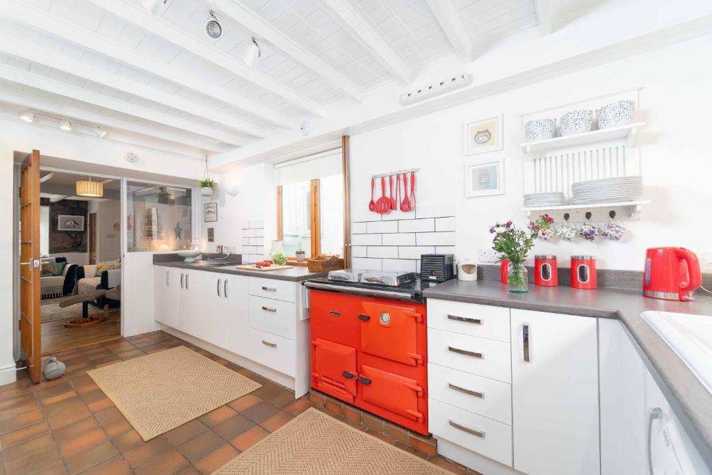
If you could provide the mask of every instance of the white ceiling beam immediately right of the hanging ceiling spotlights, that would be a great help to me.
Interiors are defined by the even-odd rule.
[[[239,0],[210,0],[210,3],[214,9],[221,11],[221,13],[244,26],[257,38],[270,43],[297,63],[320,75],[333,88],[340,90],[355,100],[361,101],[363,99],[363,90],[352,83],[349,78],[307,51]]]

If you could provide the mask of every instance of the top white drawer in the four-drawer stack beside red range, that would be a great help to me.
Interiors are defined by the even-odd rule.
[[[428,326],[465,335],[509,341],[509,309],[428,299]]]

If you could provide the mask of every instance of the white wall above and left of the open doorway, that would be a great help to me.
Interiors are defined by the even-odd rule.
[[[39,150],[42,155],[66,160],[122,167],[136,172],[170,174],[177,177],[199,179],[203,165],[197,160],[170,155],[155,150],[122,145],[98,137],[84,137],[70,132],[51,130],[19,122],[0,119],[0,220],[14,221],[14,152]],[[140,160],[130,164],[124,160],[126,152],[136,152]],[[14,381],[14,345],[16,320],[14,318],[14,232],[6,226],[0,233],[0,385]],[[145,268],[140,271],[145,272]],[[131,280],[131,279],[128,279]],[[137,279],[138,280],[138,279]],[[152,296],[152,294],[150,294]],[[144,302],[152,308],[152,302]]]

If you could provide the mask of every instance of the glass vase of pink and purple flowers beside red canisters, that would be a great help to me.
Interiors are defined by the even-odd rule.
[[[510,261],[507,270],[507,288],[510,292],[527,292],[529,276],[525,266],[527,254],[534,246],[534,241],[543,231],[550,229],[554,222],[548,214],[542,214],[524,229],[514,226],[512,221],[496,223],[490,227],[492,249],[502,255],[502,259]]]

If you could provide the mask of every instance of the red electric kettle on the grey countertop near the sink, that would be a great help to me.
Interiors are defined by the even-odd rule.
[[[682,247],[653,247],[645,253],[643,295],[669,301],[695,300],[692,292],[701,286],[700,262]]]

